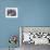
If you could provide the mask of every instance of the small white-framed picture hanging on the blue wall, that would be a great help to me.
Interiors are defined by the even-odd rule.
[[[17,8],[5,8],[5,17],[17,17]]]

